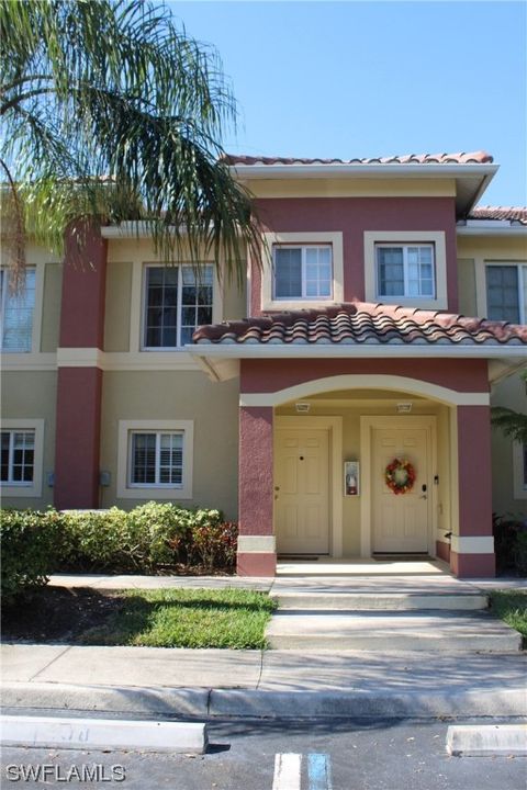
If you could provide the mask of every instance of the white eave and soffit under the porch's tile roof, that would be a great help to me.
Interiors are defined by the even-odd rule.
[[[490,362],[491,382],[494,373],[503,379],[527,365],[527,348],[518,343],[198,343],[184,350],[215,381],[237,375],[242,359],[483,359]]]

